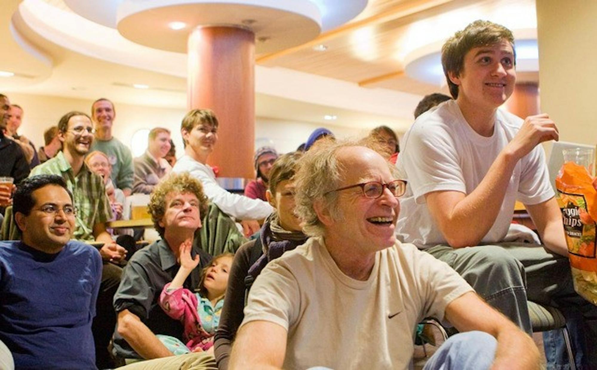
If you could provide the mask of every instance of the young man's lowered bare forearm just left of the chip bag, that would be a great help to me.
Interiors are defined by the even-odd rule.
[[[562,212],[556,199],[551,198],[543,203],[525,205],[525,208],[527,208],[528,214],[531,215],[531,219],[537,227],[543,245],[554,253],[568,257]]]

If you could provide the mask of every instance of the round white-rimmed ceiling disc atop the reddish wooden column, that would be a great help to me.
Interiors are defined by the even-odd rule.
[[[169,24],[179,22],[180,29]],[[233,26],[253,31],[256,53],[304,44],[321,32],[319,7],[309,0],[124,0],[118,31],[148,47],[184,53],[198,26]]]

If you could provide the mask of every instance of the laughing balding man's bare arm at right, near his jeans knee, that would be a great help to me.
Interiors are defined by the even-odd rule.
[[[540,367],[539,351],[533,339],[503,314],[485,303],[478,295],[468,292],[451,301],[445,318],[458,331],[484,331],[497,340],[493,370],[531,370]]]

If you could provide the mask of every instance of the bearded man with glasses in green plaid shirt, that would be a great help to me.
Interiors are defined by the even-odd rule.
[[[93,333],[96,340],[97,366],[107,368],[113,367],[113,360],[107,350],[116,325],[112,298],[122,275],[122,269],[110,262],[118,263],[124,260],[127,250],[116,244],[106,231],[106,221],[112,218],[112,212],[104,182],[84,163],[85,155],[93,143],[94,132],[88,115],[82,112],[66,113],[58,123],[62,151],[33,168],[31,175],[53,174],[64,179],[77,209],[73,238],[99,245],[104,264]]]

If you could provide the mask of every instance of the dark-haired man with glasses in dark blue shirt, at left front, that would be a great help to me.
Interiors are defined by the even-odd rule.
[[[0,243],[0,340],[18,369],[96,369],[101,257],[70,240],[76,211],[64,180],[26,178],[13,211],[22,237]]]

